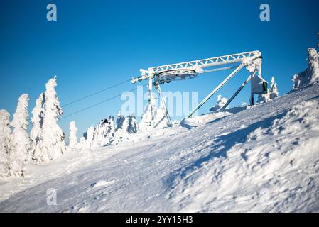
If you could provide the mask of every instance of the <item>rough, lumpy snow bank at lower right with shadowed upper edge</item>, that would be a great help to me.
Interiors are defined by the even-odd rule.
[[[256,124],[217,136],[212,153],[178,174],[178,210],[319,211],[318,100]]]

